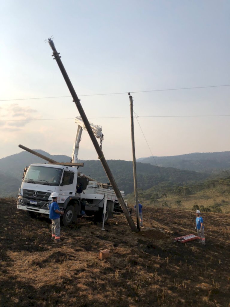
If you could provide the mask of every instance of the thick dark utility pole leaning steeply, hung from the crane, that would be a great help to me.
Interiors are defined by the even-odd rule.
[[[116,183],[115,179],[113,178],[113,174],[111,173],[111,170],[109,169],[109,165],[108,165],[107,161],[105,160],[104,154],[103,154],[103,152],[102,152],[102,150],[101,150],[101,148],[100,148],[100,146],[99,146],[99,144],[97,142],[97,139],[96,139],[96,137],[95,137],[95,135],[93,133],[93,130],[92,130],[92,128],[90,126],[90,123],[89,123],[89,121],[87,119],[87,116],[85,114],[85,111],[82,108],[80,100],[79,100],[79,98],[78,98],[78,96],[77,96],[77,94],[75,92],[75,89],[74,89],[74,87],[73,87],[73,85],[72,85],[72,83],[71,83],[71,81],[69,79],[69,76],[67,75],[67,72],[66,72],[66,70],[64,68],[64,65],[62,64],[62,61],[60,59],[61,57],[59,56],[60,53],[57,52],[57,50],[55,48],[55,45],[54,45],[54,42],[53,42],[53,40],[51,38],[48,38],[48,42],[49,42],[50,47],[53,50],[52,56],[57,61],[57,64],[58,64],[58,66],[60,68],[60,71],[61,71],[61,73],[63,75],[63,78],[64,78],[64,80],[65,80],[65,82],[67,84],[67,87],[68,87],[72,97],[73,97],[73,101],[74,101],[74,103],[75,103],[75,105],[76,105],[76,107],[77,107],[77,109],[78,109],[78,111],[80,113],[80,116],[81,116],[81,118],[82,118],[82,120],[83,120],[83,122],[85,124],[86,130],[88,131],[88,134],[89,134],[89,136],[91,138],[91,141],[93,142],[95,150],[98,153],[98,159],[100,159],[100,161],[102,163],[102,166],[103,166],[103,168],[105,170],[105,173],[106,173],[106,175],[107,175],[107,177],[109,179],[109,182],[111,183],[111,185],[113,187],[113,190],[116,193],[116,196],[117,196],[117,199],[118,199],[118,201],[119,201],[119,203],[121,205],[121,208],[123,209],[123,212],[125,213],[125,216],[126,216],[126,219],[128,221],[128,224],[129,224],[129,226],[130,226],[132,231],[136,231],[135,224],[134,224],[134,222],[132,220],[132,217],[130,216],[130,213],[129,213],[128,208],[127,208],[127,206],[125,204],[125,201],[124,201],[123,197],[121,196],[121,192],[120,192],[120,190],[119,190],[119,188],[117,186],[117,183]]]

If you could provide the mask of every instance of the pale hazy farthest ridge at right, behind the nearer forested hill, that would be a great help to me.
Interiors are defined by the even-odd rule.
[[[139,158],[137,161],[196,172],[218,173],[222,170],[230,170],[230,151],[188,153],[170,157],[147,157]]]

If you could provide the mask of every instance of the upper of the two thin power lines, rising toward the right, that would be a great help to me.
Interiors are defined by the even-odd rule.
[[[211,88],[211,87],[226,87],[230,86],[230,84],[224,85],[210,85],[210,86],[196,86],[196,87],[178,87],[178,88],[167,88],[160,90],[150,90],[150,91],[129,91],[129,92],[120,92],[120,93],[102,93],[102,94],[86,94],[79,95],[79,97],[83,96],[102,96],[102,95],[119,95],[119,94],[128,94],[128,93],[148,93],[148,92],[160,92],[160,91],[178,91],[178,90],[191,90],[196,88]],[[32,99],[51,99],[51,98],[70,98],[72,96],[52,96],[52,97],[34,97],[34,98],[19,98],[19,99],[2,99],[0,101],[17,101],[17,100],[32,100]]]

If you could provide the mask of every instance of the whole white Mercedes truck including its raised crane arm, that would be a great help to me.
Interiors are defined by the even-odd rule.
[[[78,216],[87,215],[106,222],[113,213],[122,212],[111,185],[102,184],[78,172],[79,143],[82,130],[86,130],[80,117],[75,118],[78,129],[71,162],[56,164],[31,164],[24,169],[21,188],[18,193],[17,208],[26,210],[29,215],[49,214],[48,205],[52,192],[57,192],[58,204],[64,211],[65,226],[75,222]],[[101,144],[104,138],[102,127],[90,123]],[[30,152],[33,152],[32,150]],[[74,166],[71,166],[74,165]],[[124,192],[121,192],[124,197]]]

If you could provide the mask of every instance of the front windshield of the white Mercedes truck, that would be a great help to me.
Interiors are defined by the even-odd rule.
[[[30,165],[23,182],[36,183],[40,185],[59,185],[62,169],[55,167]]]

